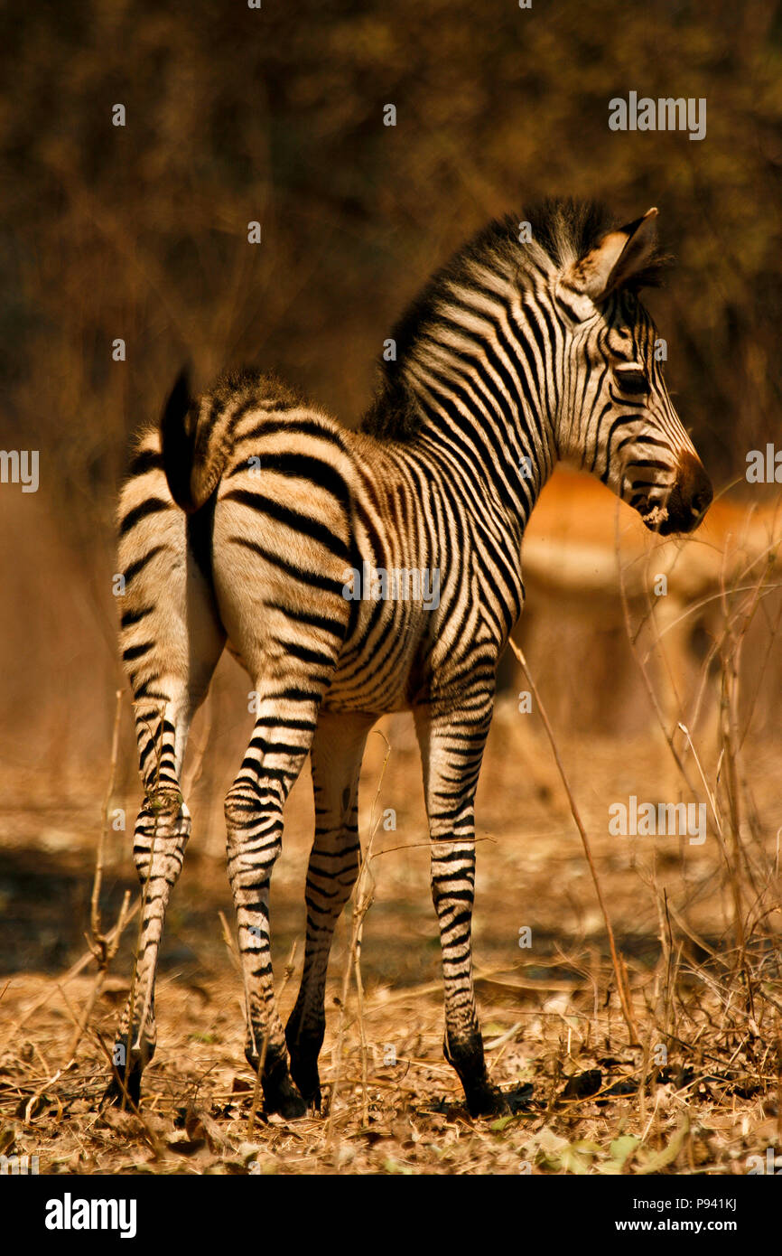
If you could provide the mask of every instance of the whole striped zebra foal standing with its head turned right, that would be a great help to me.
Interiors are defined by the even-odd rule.
[[[523,603],[526,521],[557,458],[594,472],[663,534],[690,531],[712,499],[639,299],[660,270],[655,216],[616,227],[600,207],[559,201],[527,215],[531,242],[515,220],[490,225],[395,328],[398,358],[383,364],[359,432],[244,373],[198,399],[182,377],[159,428],[141,437],[119,510],[121,642],[146,795],[133,845],[143,945],[117,1039],[129,1044],[118,1076],[136,1100],[190,834],[185,744],[227,643],[256,698],[226,824],[246,1056],[257,1069],[267,1039],[266,1109],[320,1105],[326,965],[360,860],[362,755],[377,718],[399,710],[413,711],[423,760],[446,1058],[472,1114],[505,1109],[473,995],[473,799],[497,661]],[[384,595],[382,574],[394,571],[428,574],[429,593],[437,573],[437,597]],[[308,754],[306,947],[284,1031],[269,883]]]

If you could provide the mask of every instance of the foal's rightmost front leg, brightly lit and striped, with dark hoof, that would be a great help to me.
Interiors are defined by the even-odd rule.
[[[510,1112],[486,1070],[472,977],[476,844],[473,801],[492,701],[472,695],[461,711],[418,708],[424,796],[432,840],[432,899],[439,923],[446,995],[443,1053],[472,1117]]]

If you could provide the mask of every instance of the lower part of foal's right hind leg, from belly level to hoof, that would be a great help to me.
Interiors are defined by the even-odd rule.
[[[256,686],[256,690],[260,687]],[[269,885],[282,849],[282,808],[306,757],[316,705],[287,720],[280,700],[260,702],[259,717],[240,772],[226,798],[228,880],[238,926],[238,950],[247,1005],[245,1056],[257,1073],[267,1113],[303,1117],[306,1104],[287,1069],[287,1049],[277,1014],[271,971]],[[292,703],[291,703],[292,705]]]

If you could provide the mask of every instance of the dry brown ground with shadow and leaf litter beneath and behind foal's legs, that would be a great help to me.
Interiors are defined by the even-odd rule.
[[[362,1049],[353,983],[340,1012],[349,917],[340,922],[321,1055],[324,1114],[285,1123],[254,1108],[244,1004],[221,854],[220,796],[193,785],[193,838],[173,897],[156,1000],[158,1049],[141,1117],[100,1110],[105,1050],[127,997],[137,921],[95,986],[89,926],[100,803],[70,809],[11,799],[0,843],[0,1154],[40,1173],[747,1173],[767,1149],[782,1166],[778,749],[752,747],[761,840],[746,836],[741,950],[723,848],[608,831],[614,800],[673,800],[654,736],[618,747],[574,737],[561,750],[626,963],[639,1045],[618,1000],[605,924],[551,754],[503,700],[477,800],[477,993],[492,1078],[513,1114],[472,1120],[442,1056],[439,943],[428,891],[420,766],[407,717],[372,737],[362,833],[378,829],[374,902],[362,950]],[[621,752],[619,750],[621,749]],[[374,813],[373,799],[378,790]],[[664,782],[664,784],[663,784]],[[93,791],[94,793],[94,791]],[[210,794],[212,793],[210,788]],[[118,795],[132,830],[138,795]],[[304,939],[311,833],[309,774],[286,810],[272,882],[277,988]],[[766,878],[766,880],[763,880]],[[137,892],[127,833],[112,833],[102,911],[108,929]],[[530,931],[528,933],[525,931]],[[343,1029],[341,1053],[338,1046]],[[363,1081],[365,1066],[367,1081]]]

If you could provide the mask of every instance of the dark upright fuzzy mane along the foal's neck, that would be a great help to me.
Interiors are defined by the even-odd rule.
[[[520,224],[530,224],[531,240],[518,240]],[[392,330],[397,360],[379,362],[374,399],[362,421],[362,431],[379,440],[408,441],[423,416],[404,378],[404,363],[415,343],[437,327],[442,306],[454,285],[474,285],[477,271],[490,268],[508,281],[523,283],[537,271],[561,269],[577,261],[609,231],[620,225],[599,201],[556,197],[530,206],[520,216],[495,219],[477,232],[424,285]],[[653,288],[661,283],[667,257],[659,249],[628,288]],[[479,280],[478,280],[479,281]]]

